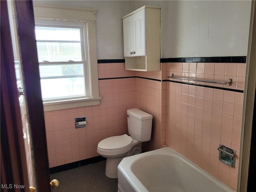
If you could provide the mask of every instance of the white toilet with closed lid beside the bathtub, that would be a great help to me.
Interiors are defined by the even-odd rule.
[[[139,109],[127,110],[128,133],[105,138],[98,144],[97,152],[107,158],[105,174],[117,178],[117,166],[124,157],[140,154],[141,142],[151,138],[153,116]]]

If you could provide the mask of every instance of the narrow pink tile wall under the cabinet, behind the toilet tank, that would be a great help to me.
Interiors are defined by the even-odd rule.
[[[158,149],[165,144],[166,82],[156,81],[162,71],[136,72],[136,76],[155,79],[136,78],[136,108],[153,115],[151,140],[142,143],[142,150]]]

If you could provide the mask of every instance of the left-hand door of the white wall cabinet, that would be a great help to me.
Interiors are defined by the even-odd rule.
[[[133,54],[131,54],[134,51],[132,15],[123,19],[123,31],[124,31],[124,57],[134,56]]]

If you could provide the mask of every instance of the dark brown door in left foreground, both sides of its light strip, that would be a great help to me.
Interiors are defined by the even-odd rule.
[[[1,1],[1,191],[29,191],[26,151],[14,67],[7,2]],[[37,192],[50,192],[44,111],[32,1],[14,1],[20,66],[31,144],[32,172]],[[16,191],[16,190],[14,190]]]

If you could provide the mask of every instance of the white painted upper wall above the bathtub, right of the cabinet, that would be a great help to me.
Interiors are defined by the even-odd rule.
[[[161,58],[246,56],[251,1],[136,1],[161,6]]]

